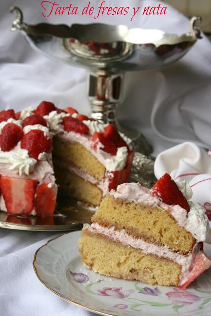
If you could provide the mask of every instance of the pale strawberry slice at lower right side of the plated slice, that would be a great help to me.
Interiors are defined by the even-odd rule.
[[[206,256],[206,254],[200,251],[197,254],[196,262],[190,271],[190,274],[182,285],[179,285],[179,289],[184,290],[190,283],[192,283],[198,276],[200,276],[205,270],[210,268],[211,260]]]

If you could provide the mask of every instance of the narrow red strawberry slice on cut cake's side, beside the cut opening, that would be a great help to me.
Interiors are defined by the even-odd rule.
[[[46,183],[38,187],[35,198],[37,215],[53,215],[56,206],[57,186],[48,188]]]

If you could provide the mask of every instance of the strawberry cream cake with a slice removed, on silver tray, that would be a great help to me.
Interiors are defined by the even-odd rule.
[[[130,143],[113,125],[51,102],[0,111],[0,210],[52,215],[58,186],[88,206],[99,205],[128,181]]]

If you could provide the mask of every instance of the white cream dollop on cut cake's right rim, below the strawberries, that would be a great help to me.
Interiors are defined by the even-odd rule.
[[[106,159],[106,168],[108,171],[122,170],[127,161],[127,147],[120,147],[117,150],[117,155]]]

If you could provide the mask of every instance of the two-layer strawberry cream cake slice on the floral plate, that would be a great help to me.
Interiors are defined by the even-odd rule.
[[[190,197],[190,187],[179,186]],[[107,194],[84,225],[79,251],[94,272],[184,289],[211,266],[208,230],[205,209],[189,205],[165,174],[151,190],[124,183]]]

